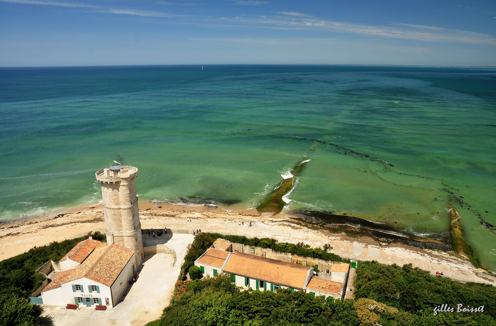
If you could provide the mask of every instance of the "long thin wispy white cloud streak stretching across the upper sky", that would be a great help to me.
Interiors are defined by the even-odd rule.
[[[257,0],[232,0],[236,4],[259,5],[267,3]],[[375,38],[396,38],[427,42],[447,42],[479,45],[496,45],[496,38],[482,33],[448,29],[435,26],[391,23],[387,26],[366,25],[350,22],[333,21],[318,18],[301,12],[282,11],[276,15],[267,16],[237,16],[237,17],[210,17],[170,14],[161,11],[139,10],[128,8],[109,8],[80,2],[42,1],[42,0],[0,0],[0,2],[18,3],[26,5],[60,6],[67,8],[81,8],[92,12],[101,12],[115,15],[130,15],[149,18],[168,18],[170,21],[177,18],[183,24],[203,24],[216,26],[252,26],[258,28],[298,29],[320,31],[334,34],[347,34]],[[115,3],[115,2],[114,2]],[[172,3],[172,2],[164,2]],[[496,18],[496,17],[494,17]]]

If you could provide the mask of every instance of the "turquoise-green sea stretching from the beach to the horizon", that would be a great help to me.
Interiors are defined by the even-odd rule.
[[[496,271],[496,68],[213,65],[0,68],[0,220],[101,198],[254,207],[310,159],[285,212],[446,240],[448,200]]]

